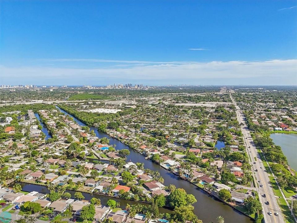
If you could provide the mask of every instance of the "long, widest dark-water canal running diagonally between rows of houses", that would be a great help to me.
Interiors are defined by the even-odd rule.
[[[86,126],[83,122],[75,118],[74,116],[68,114],[64,110],[57,107],[61,112],[71,116],[79,125]],[[132,150],[126,144],[120,142],[117,139],[111,138],[108,134],[99,132],[97,128],[90,127],[90,130],[94,130],[96,136],[99,138],[106,137],[110,140],[110,144],[115,144],[117,150],[121,149],[128,149],[130,151],[130,155],[127,156],[127,161],[133,163],[143,163],[144,168],[149,168],[154,171],[159,171],[161,176],[164,178],[164,185],[168,186],[169,184],[175,185],[177,188],[183,188],[187,191],[188,194],[192,194],[197,199],[197,202],[193,204],[194,206],[194,213],[201,219],[203,222],[210,222],[216,221],[217,216],[223,216],[225,222],[228,223],[251,223],[253,222],[248,216],[236,211],[235,209],[231,208],[227,204],[219,201],[218,199],[214,198],[213,196],[209,196],[206,192],[199,189],[197,186],[193,185],[192,183],[180,179],[178,176],[174,175],[171,172],[166,171],[165,169],[161,168],[160,165],[153,163],[151,160],[146,160],[144,155]],[[102,202],[104,203],[104,202]]]

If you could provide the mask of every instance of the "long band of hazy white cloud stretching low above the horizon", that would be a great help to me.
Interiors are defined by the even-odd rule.
[[[159,64],[160,63],[160,64]],[[117,79],[126,80],[150,80],[158,84],[158,81],[183,80],[183,83],[192,83],[191,80],[199,79],[227,79],[227,78],[250,78],[258,84],[259,78],[263,81],[278,78],[292,85],[297,84],[297,59],[289,60],[267,60],[267,61],[212,61],[207,63],[183,62],[183,63],[161,63],[157,64],[135,64],[130,67],[110,67],[97,69],[74,69],[74,68],[48,68],[48,67],[0,67],[0,79],[2,83],[10,80],[46,80],[51,79],[67,84],[68,80],[108,80],[113,82]],[[60,80],[60,81],[59,81]],[[78,81],[77,84],[81,82]],[[284,82],[285,83],[285,82]],[[232,84],[232,83],[230,83]],[[245,84],[245,83],[242,83]],[[259,83],[260,84],[260,83]],[[262,83],[263,84],[263,83]],[[275,85],[282,83],[276,82]]]

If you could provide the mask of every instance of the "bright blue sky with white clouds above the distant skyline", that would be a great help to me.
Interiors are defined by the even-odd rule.
[[[297,84],[296,1],[0,1],[0,84]]]

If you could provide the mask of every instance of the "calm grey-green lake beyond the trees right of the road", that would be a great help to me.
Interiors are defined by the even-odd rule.
[[[287,157],[290,167],[297,170],[297,134],[273,133],[270,138],[275,145],[282,147],[282,152]]]

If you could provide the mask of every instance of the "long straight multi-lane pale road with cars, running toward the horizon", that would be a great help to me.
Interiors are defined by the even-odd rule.
[[[277,199],[274,196],[272,187],[269,183],[268,173],[265,171],[265,167],[262,163],[262,160],[260,159],[260,155],[258,154],[256,146],[251,137],[250,130],[248,129],[248,126],[243,119],[240,108],[236,105],[231,94],[230,98],[236,107],[236,116],[239,124],[244,124],[241,126],[241,130],[243,133],[244,143],[247,148],[247,153],[252,160],[250,164],[252,165],[253,177],[256,180],[257,184],[255,185],[255,187],[259,192],[259,199],[263,207],[264,221],[265,223],[284,223],[285,221],[283,219],[281,209],[278,206]],[[260,185],[263,186],[260,187]],[[264,194],[266,195],[266,197],[263,196]],[[267,204],[267,201],[269,202],[269,205]],[[272,215],[269,215],[269,212],[271,212]],[[277,216],[277,212],[279,213],[279,216]]]

